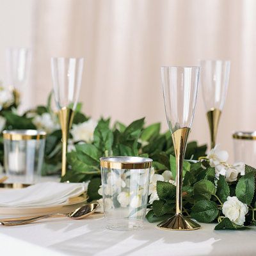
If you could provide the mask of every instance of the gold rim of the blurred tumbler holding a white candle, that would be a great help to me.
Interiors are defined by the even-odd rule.
[[[46,137],[45,131],[37,130],[4,130],[5,140],[41,140]]]

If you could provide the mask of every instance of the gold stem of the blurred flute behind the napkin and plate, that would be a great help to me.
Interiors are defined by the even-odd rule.
[[[63,107],[59,111],[60,125],[62,131],[62,162],[61,162],[61,177],[66,174],[67,170],[67,142],[69,129],[73,122],[74,112],[72,109]]]

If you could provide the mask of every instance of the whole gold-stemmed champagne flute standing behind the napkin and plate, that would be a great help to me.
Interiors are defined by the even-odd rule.
[[[65,175],[67,168],[68,134],[79,97],[83,63],[83,58],[51,58],[54,99],[59,109],[62,131],[61,176]]]

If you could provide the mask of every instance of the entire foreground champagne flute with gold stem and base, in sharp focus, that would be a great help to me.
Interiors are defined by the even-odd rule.
[[[182,215],[182,168],[198,93],[199,67],[162,67],[166,119],[176,156],[176,214],[157,226],[168,230],[195,230],[200,225]]]

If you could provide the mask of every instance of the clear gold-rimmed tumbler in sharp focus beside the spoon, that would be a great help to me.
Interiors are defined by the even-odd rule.
[[[152,159],[145,157],[100,158],[106,228],[143,229],[151,168]]]

